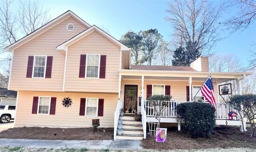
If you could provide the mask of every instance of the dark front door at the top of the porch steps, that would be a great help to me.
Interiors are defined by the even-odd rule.
[[[124,112],[137,111],[138,85],[124,85]]]

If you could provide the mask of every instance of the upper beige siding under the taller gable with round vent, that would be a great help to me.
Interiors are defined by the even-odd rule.
[[[69,23],[74,24],[75,28],[73,31],[66,30],[66,25]],[[10,89],[17,91],[62,91],[65,55],[56,50],[56,47],[86,30],[86,28],[75,18],[69,17],[36,38],[14,49]],[[26,78],[28,56],[34,55],[53,56],[51,78]]]

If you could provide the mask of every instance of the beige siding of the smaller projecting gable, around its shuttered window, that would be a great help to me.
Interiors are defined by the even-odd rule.
[[[80,55],[106,55],[105,79],[79,78]],[[68,47],[65,91],[118,93],[120,47],[94,31]]]

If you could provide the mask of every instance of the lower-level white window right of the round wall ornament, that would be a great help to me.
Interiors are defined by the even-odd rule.
[[[86,116],[98,116],[98,100],[98,98],[86,98]]]

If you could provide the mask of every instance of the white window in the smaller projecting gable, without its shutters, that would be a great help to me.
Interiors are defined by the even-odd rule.
[[[86,55],[86,78],[99,78],[100,75],[100,55]]]

